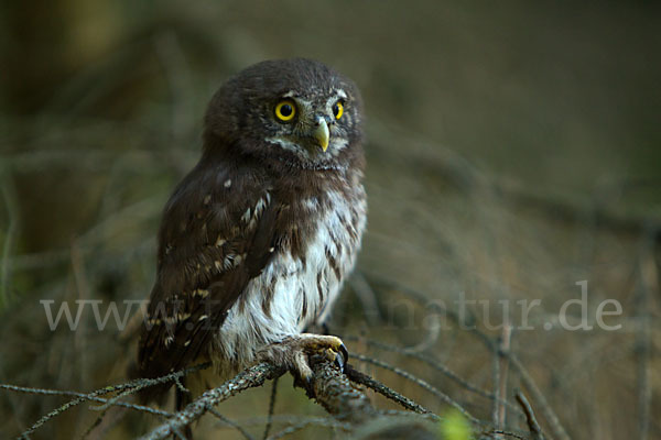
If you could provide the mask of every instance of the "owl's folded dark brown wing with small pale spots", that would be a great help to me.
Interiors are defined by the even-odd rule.
[[[248,169],[198,165],[180,184],[163,215],[140,376],[165,375],[206,352],[227,311],[273,254],[277,217],[263,177]]]

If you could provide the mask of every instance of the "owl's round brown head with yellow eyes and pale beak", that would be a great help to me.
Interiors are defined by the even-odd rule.
[[[360,155],[358,88],[326,65],[302,58],[256,64],[212,98],[205,147],[231,148],[303,168],[344,167]]]

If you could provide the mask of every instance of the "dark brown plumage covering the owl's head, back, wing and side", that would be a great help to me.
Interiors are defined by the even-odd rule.
[[[272,120],[273,102],[292,90],[310,94],[318,108],[328,92],[345,94],[346,116],[337,123],[329,119],[330,135],[344,140],[345,146],[332,144],[328,154],[321,154],[305,136],[294,150],[268,142],[279,135],[293,139],[307,127],[304,121],[296,129]],[[339,219],[347,243],[330,237],[335,243],[328,245],[335,254],[325,249],[335,277],[333,288],[339,287],[345,270],[353,265],[365,224],[360,120],[360,95],[354,84],[316,62],[261,63],[220,88],[205,119],[203,156],[163,212],[158,274],[140,338],[137,375],[158,377],[214,358],[212,342],[230,309],[236,305],[238,314],[256,312],[249,309],[245,293],[273,258],[288,255],[305,271],[317,222],[337,209],[329,194],[339,194],[351,207],[350,213]],[[312,200],[313,208],[305,200]],[[335,233],[328,230],[328,234]],[[308,304],[306,295],[316,296],[317,292],[301,293],[299,321],[308,319],[311,308],[315,319],[325,309],[330,287],[324,277],[322,273],[315,276],[318,299]],[[274,288],[267,285],[259,293],[263,295],[259,309],[268,319],[272,318]],[[259,338],[264,331],[253,330]],[[156,397],[170,386],[148,388],[142,398]]]

